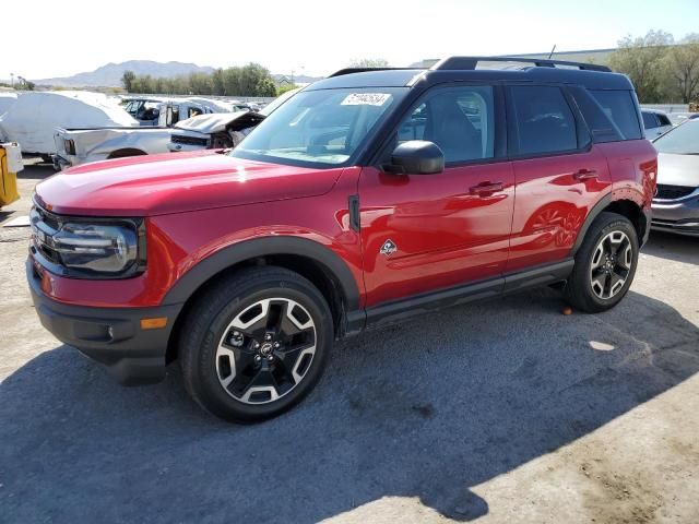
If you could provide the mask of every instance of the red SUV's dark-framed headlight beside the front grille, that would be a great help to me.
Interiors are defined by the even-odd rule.
[[[138,231],[128,226],[69,222],[52,240],[66,267],[121,273],[137,261]]]

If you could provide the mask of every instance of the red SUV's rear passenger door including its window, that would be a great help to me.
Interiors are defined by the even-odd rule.
[[[588,213],[611,190],[605,156],[557,85],[507,87],[516,179],[507,273],[565,260]]]

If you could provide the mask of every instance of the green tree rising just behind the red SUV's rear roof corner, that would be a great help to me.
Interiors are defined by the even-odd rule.
[[[673,35],[649,31],[645,36],[626,36],[609,57],[609,66],[631,79],[641,103],[663,102],[663,59],[673,44]]]

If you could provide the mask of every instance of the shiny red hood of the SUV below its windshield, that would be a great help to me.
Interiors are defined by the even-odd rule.
[[[315,196],[330,191],[341,172],[203,150],[73,167],[40,182],[36,195],[58,214],[140,217]]]

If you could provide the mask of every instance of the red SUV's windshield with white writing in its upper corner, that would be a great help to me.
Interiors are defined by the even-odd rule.
[[[230,156],[301,167],[351,162],[406,87],[300,92],[265,118]]]

